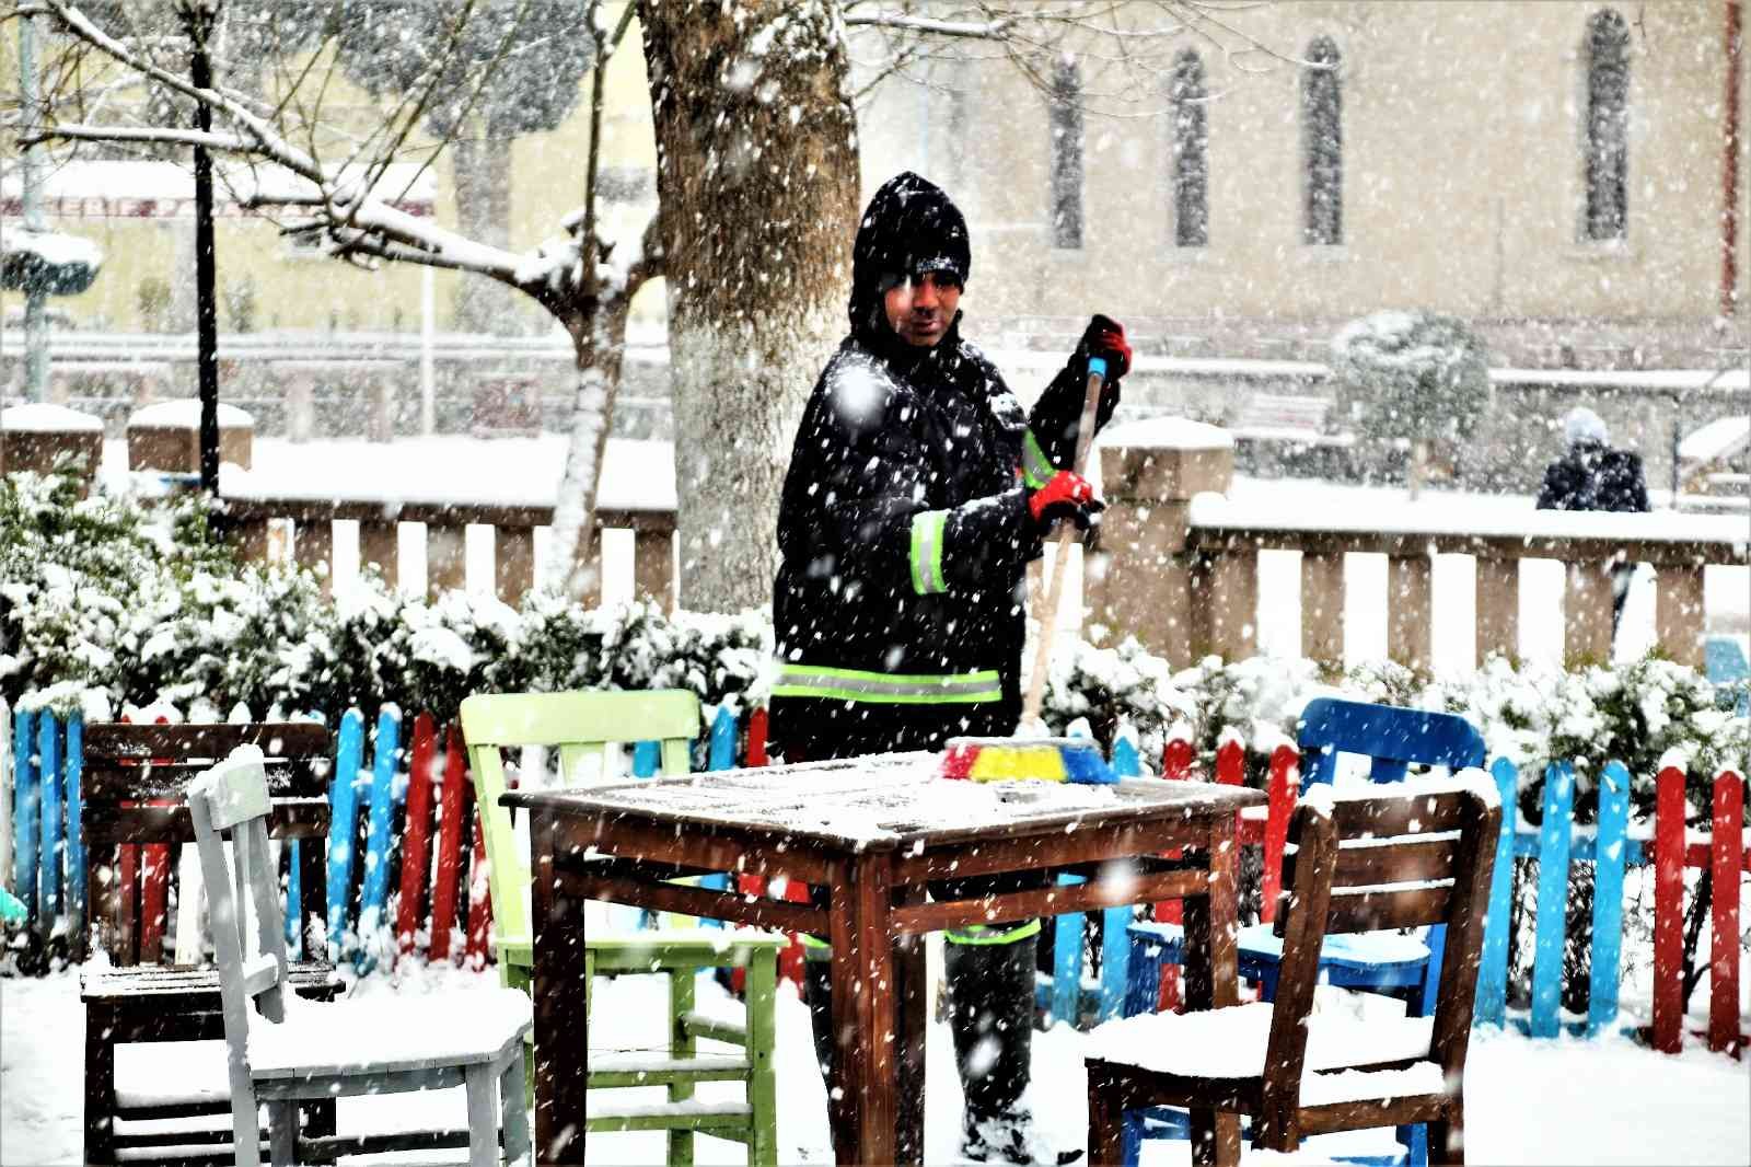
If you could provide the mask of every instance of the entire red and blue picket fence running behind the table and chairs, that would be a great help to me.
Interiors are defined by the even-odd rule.
[[[11,883],[30,911],[26,929],[39,937],[63,937],[77,953],[84,930],[86,853],[79,836],[79,774],[82,724],[79,717],[12,713],[11,790]],[[369,750],[369,759],[366,752]],[[735,764],[763,766],[765,710],[739,724],[718,710],[704,743],[706,769]],[[466,960],[476,967],[492,960],[489,943],[492,904],[485,878],[485,846],[475,818],[475,787],[468,773],[461,729],[440,725],[431,713],[413,718],[403,745],[403,715],[385,706],[375,734],[366,732],[364,715],[348,710],[334,736],[334,780],[329,790],[333,813],[327,848],[327,887],[299,887],[296,853],[287,855],[287,944],[292,955],[306,936],[326,937],[331,958],[352,960],[361,971],[403,957]],[[1168,741],[1161,774],[1168,780],[1201,780],[1189,741]],[[1143,773],[1136,748],[1121,738],[1112,764],[1121,774]],[[657,743],[637,743],[630,752],[634,778],[658,769]],[[1247,757],[1236,736],[1226,736],[1215,753],[1215,782],[1245,782]],[[1240,841],[1262,850],[1259,911],[1275,916],[1282,883],[1282,857],[1289,815],[1299,787],[1299,755],[1278,746],[1268,759],[1266,808],[1241,811]],[[1739,941],[1739,906],[1751,873],[1751,845],[1744,831],[1744,776],[1719,773],[1712,782],[1711,831],[1686,827],[1684,773],[1665,767],[1656,776],[1656,810],[1651,824],[1630,822],[1630,774],[1609,764],[1600,776],[1597,825],[1574,824],[1574,773],[1567,764],[1546,771],[1541,825],[1518,820],[1520,774],[1513,762],[1490,766],[1502,796],[1504,831],[1497,845],[1495,881],[1485,923],[1483,965],[1478,976],[1476,1022],[1502,1025],[1508,1018],[1508,927],[1513,894],[1513,857],[1539,862],[1536,936],[1532,955],[1532,1001],[1516,1025],[1537,1037],[1565,1029],[1560,1013],[1565,902],[1569,866],[1595,862],[1592,974],[1588,1015],[1569,1023],[1579,1032],[1599,1032],[1618,1016],[1618,978],[1623,950],[1623,876],[1628,866],[1655,869],[1653,909],[1653,1023],[1644,1037],[1658,1050],[1683,1046],[1683,920],[1684,871],[1711,873],[1709,920],[1709,1025],[1711,1050],[1733,1050],[1751,1037],[1739,1032],[1739,985],[1744,951]],[[341,778],[347,778],[345,782]],[[296,848],[289,843],[287,850]],[[140,855],[140,852],[147,852]],[[170,890],[168,846],[123,846],[117,878],[133,888],[140,913],[142,955],[166,957]],[[187,873],[184,873],[187,876]],[[721,876],[720,876],[721,880]],[[765,894],[758,876],[739,876],[749,895]],[[786,895],[805,888],[790,887]],[[313,904],[326,904],[326,913]],[[1180,904],[1154,906],[1157,920],[1180,920]],[[303,922],[301,929],[296,922]],[[1065,1022],[1086,1011],[1100,1018],[1119,1016],[1128,978],[1126,923],[1131,908],[1103,913],[1098,972],[1084,971],[1084,918],[1058,916],[1052,930],[1054,974],[1042,983],[1042,1004]],[[310,927],[319,923],[320,927]],[[177,951],[187,957],[184,930],[198,929],[193,897],[179,902]],[[198,950],[194,950],[198,951]],[[198,957],[196,957],[198,958]],[[784,957],[784,972],[800,981],[800,950]],[[1175,971],[1161,981],[1161,1002],[1171,1006],[1178,987]]]

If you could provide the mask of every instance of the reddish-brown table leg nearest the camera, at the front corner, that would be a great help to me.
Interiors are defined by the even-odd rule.
[[[833,1046],[839,1090],[833,1156],[840,1163],[893,1163],[898,1127],[898,1037],[890,929],[891,857],[853,860],[833,883]]]

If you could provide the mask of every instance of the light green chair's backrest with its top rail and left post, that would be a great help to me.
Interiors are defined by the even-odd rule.
[[[560,780],[576,783],[585,759],[608,743],[662,741],[665,774],[686,773],[686,743],[699,736],[699,697],[688,690],[478,694],[462,703],[462,738],[475,776],[475,806],[492,880],[494,929],[527,939],[529,859],[517,845],[504,794],[503,750],[559,746]],[[606,764],[606,759],[602,759]]]

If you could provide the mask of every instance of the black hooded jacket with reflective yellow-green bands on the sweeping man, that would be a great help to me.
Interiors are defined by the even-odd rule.
[[[1030,417],[960,315],[930,349],[893,333],[883,277],[965,282],[970,266],[946,193],[914,173],[883,184],[853,247],[851,335],[804,408],[779,503],[770,738],[790,760],[1009,734],[1021,715],[1040,554],[1024,482],[1070,464],[1087,357]]]

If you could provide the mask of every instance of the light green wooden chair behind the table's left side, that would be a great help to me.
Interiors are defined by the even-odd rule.
[[[662,773],[685,774],[688,741],[699,734],[699,697],[662,692],[480,694],[462,703],[462,739],[475,774],[475,803],[492,867],[492,915],[504,985],[531,990],[534,936],[529,922],[529,852],[518,841],[504,794],[506,748],[548,746],[559,757],[559,782],[578,783],[588,771],[604,773],[606,752],[620,743],[660,741]],[[669,1162],[693,1162],[693,1135],[709,1134],[748,1144],[749,1163],[777,1162],[777,1078],[772,1067],[777,953],[784,936],[704,929],[655,929],[592,934],[585,962],[590,980],[620,974],[669,976],[669,1053],[590,1055],[590,1090],[667,1086],[667,1109],[648,1102],[616,1106],[590,1100],[587,1130],[667,1130]],[[746,1025],[709,1018],[695,1009],[693,981],[700,969],[744,967]],[[588,1002],[588,992],[585,1001]],[[588,1004],[585,1006],[588,1008]],[[700,1053],[699,1039],[741,1046],[734,1055]],[[534,1058],[529,1060],[534,1065]],[[699,1104],[702,1081],[741,1081],[744,1102]]]

